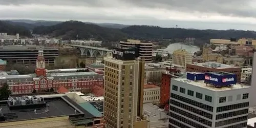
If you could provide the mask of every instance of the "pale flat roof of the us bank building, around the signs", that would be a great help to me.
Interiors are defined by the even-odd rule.
[[[212,86],[211,84],[204,83],[204,80],[193,81],[193,80],[189,80],[187,78],[175,78],[172,80],[186,82],[187,84],[191,84],[193,86],[197,86],[197,87],[207,89],[210,91],[215,91],[215,92],[250,88],[249,86],[246,86],[245,84],[241,84],[241,83],[233,84],[233,86],[231,86],[231,87],[216,88],[216,87]]]

